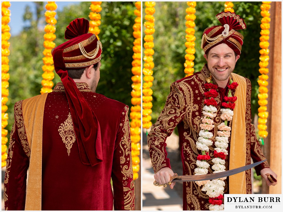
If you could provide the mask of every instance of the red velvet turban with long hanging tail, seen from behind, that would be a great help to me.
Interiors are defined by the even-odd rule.
[[[54,68],[65,87],[76,139],[83,164],[96,165],[103,161],[101,132],[95,113],[78,90],[67,69],[81,69],[98,63],[102,45],[97,37],[88,33],[89,22],[84,18],[73,20],[65,31],[70,39],[52,50]]]

